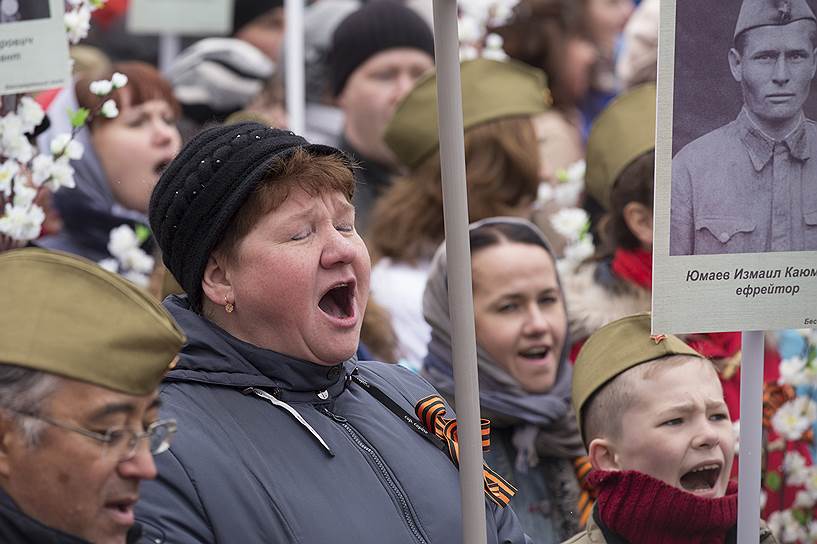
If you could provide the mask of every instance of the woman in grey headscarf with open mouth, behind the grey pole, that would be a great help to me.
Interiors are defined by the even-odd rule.
[[[574,472],[584,447],[570,407],[567,314],[556,261],[541,231],[514,218],[470,231],[482,415],[491,420],[485,459],[518,492],[515,510],[536,542],[567,539],[590,511]],[[423,299],[431,325],[423,376],[455,403],[445,248]]]

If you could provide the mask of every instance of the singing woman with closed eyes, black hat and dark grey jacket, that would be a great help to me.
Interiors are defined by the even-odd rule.
[[[202,132],[156,186],[188,343],[162,389],[179,433],[143,487],[148,537],[462,540],[456,466],[413,415],[436,392],[354,357],[370,263],[353,190],[339,151],[256,123]],[[486,502],[488,542],[528,541]]]

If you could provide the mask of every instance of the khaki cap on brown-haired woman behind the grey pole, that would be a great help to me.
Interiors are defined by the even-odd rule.
[[[463,127],[505,117],[535,115],[551,104],[545,74],[517,61],[474,59],[460,64]],[[421,78],[386,127],[384,136],[402,164],[416,168],[437,150],[437,76]]]

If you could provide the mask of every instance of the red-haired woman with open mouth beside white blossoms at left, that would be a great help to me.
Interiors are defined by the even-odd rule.
[[[101,73],[86,73],[51,104],[52,127],[40,139],[46,149],[58,134],[70,132],[66,110],[95,111],[101,99],[90,90],[94,80],[110,80],[119,72],[128,83],[111,99],[119,114],[95,115],[88,130],[77,134],[85,152],[71,161],[76,188],[54,195],[62,230],[37,244],[81,255],[94,261],[110,258],[111,230],[121,225],[147,225],[150,193],[164,168],[181,147],[176,129],[179,104],[169,83],[152,66],[117,63]]]

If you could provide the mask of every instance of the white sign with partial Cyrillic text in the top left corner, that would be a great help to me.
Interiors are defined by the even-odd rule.
[[[2,21],[7,17],[0,17],[0,95],[68,85],[71,69],[63,0],[5,4],[17,8],[13,11],[18,15],[6,22]]]

